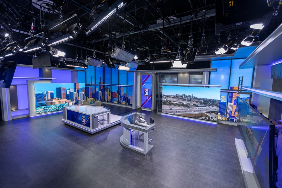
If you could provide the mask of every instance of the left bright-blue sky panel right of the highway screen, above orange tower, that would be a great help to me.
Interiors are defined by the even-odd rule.
[[[221,89],[228,89],[231,60],[212,61],[211,68],[217,72],[211,72],[210,84],[221,85]]]

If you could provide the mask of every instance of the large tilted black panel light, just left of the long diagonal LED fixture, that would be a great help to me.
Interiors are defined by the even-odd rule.
[[[67,22],[72,22],[74,24],[68,25]],[[50,47],[75,39],[81,31],[81,28],[82,24],[78,22],[77,15],[72,15],[70,18],[56,24],[47,31],[49,35],[47,46]]]

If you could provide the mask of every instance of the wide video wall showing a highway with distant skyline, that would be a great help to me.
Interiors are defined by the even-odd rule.
[[[163,86],[162,113],[217,121],[219,88]]]

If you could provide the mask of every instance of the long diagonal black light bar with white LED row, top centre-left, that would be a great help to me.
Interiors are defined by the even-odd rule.
[[[96,29],[98,29],[102,24],[107,22],[108,19],[110,19],[112,16],[117,14],[119,11],[121,11],[123,8],[125,8],[128,5],[129,1],[116,1],[112,5],[109,6],[100,16],[98,16],[88,27],[86,27],[86,30],[84,31],[86,36],[93,33]]]

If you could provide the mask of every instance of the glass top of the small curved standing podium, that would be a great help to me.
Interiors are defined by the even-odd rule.
[[[143,130],[150,130],[155,125],[154,123],[147,123],[146,120],[143,118],[146,116],[146,114],[139,113],[139,112],[133,112],[128,115],[124,115],[120,121],[122,124],[126,126],[132,126],[133,128],[143,129]]]

